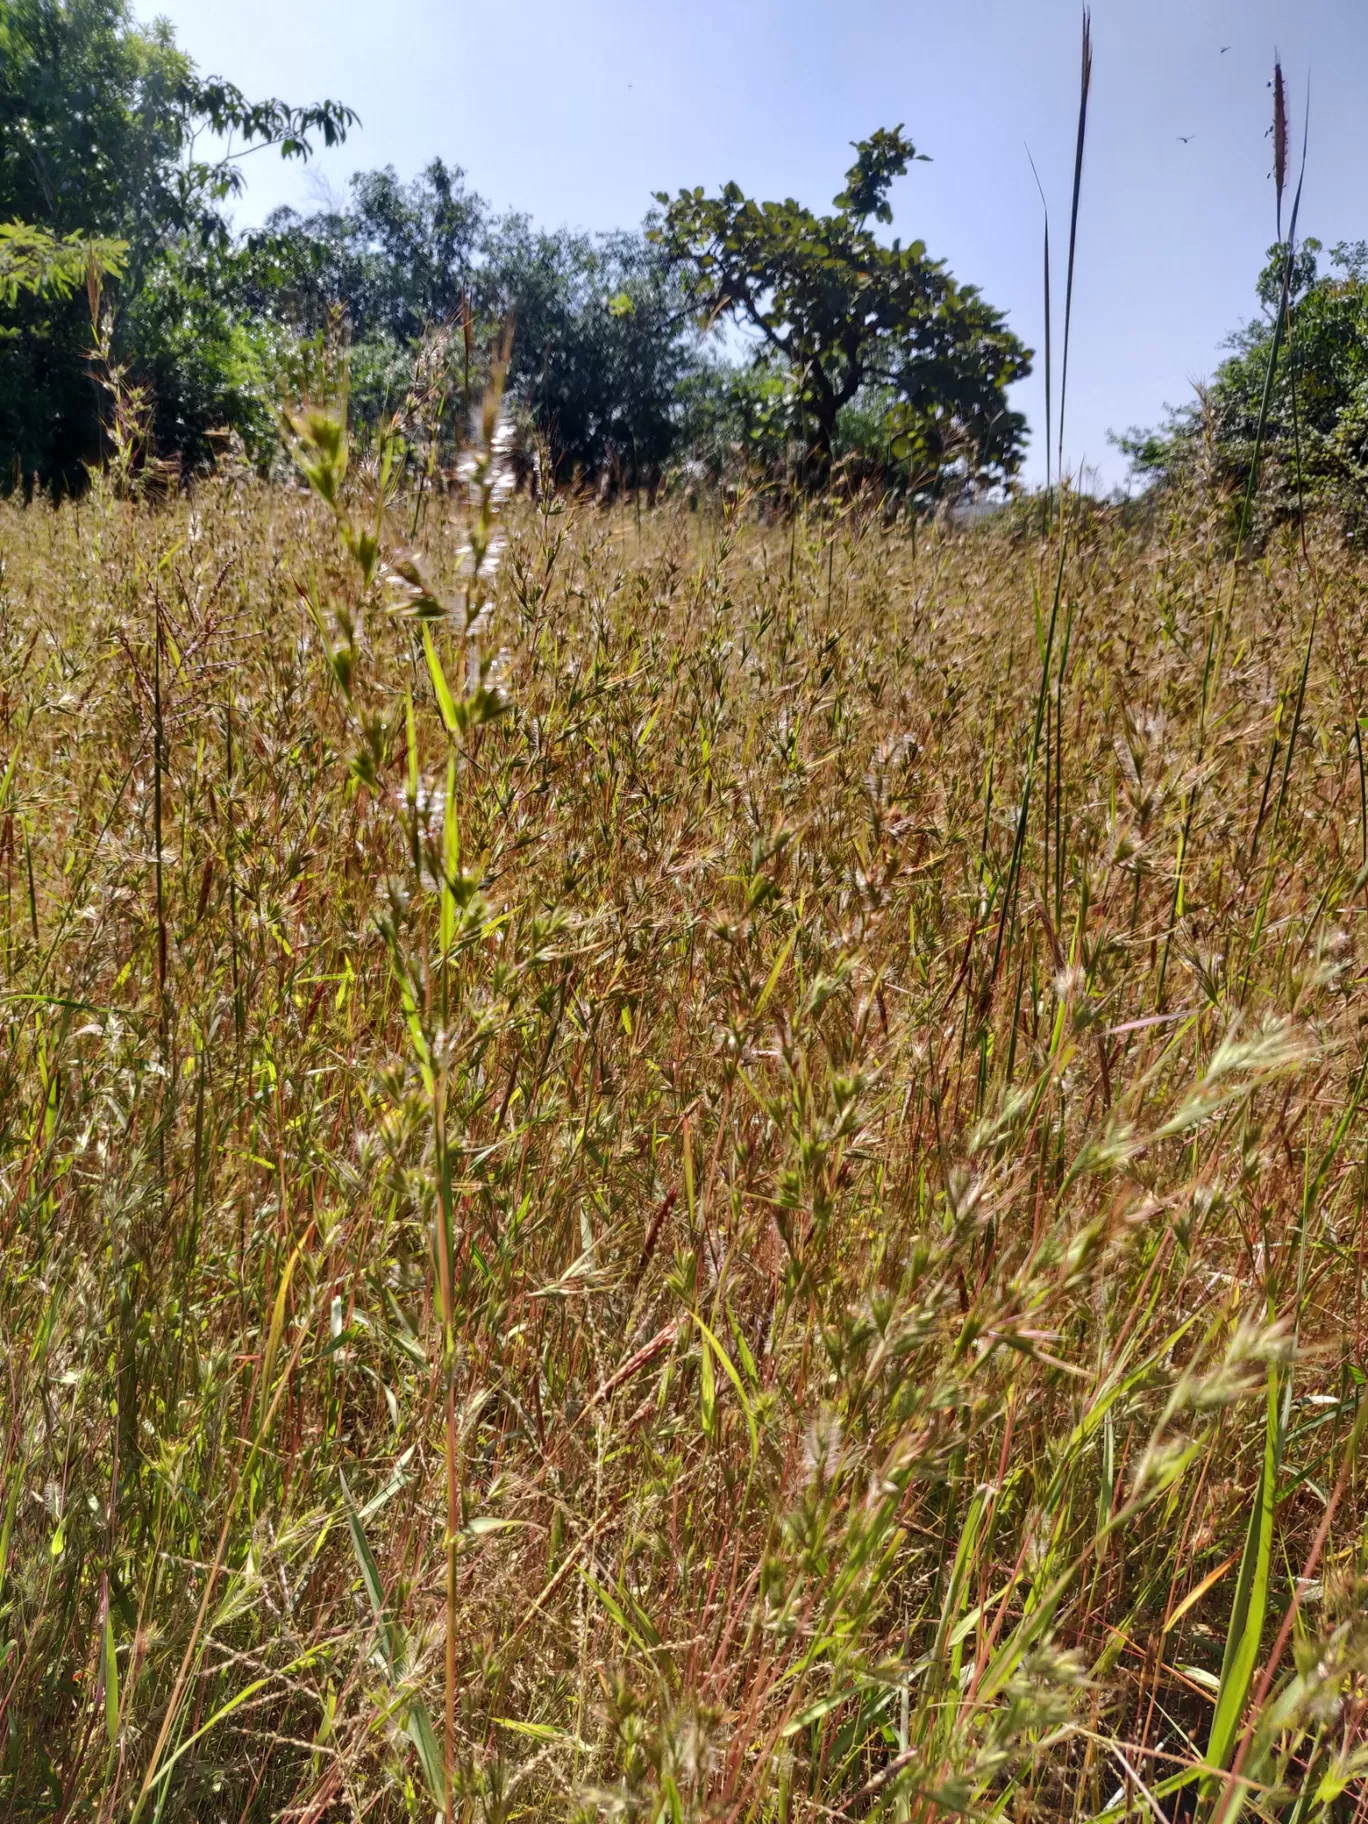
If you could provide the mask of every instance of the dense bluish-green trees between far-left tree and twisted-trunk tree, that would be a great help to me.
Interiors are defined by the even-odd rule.
[[[440,161],[410,184],[390,170],[359,173],[345,210],[277,212],[241,250],[237,297],[305,334],[341,306],[359,354],[352,405],[363,421],[394,407],[421,337],[454,330],[469,310],[471,345],[449,339],[451,441],[482,383],[478,350],[513,323],[511,401],[560,478],[655,485],[679,452],[695,337],[655,248],[640,233],[496,219]]]

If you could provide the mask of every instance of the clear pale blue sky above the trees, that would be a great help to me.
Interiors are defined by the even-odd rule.
[[[248,162],[243,223],[308,206],[354,170],[434,153],[500,208],[602,230],[651,192],[737,179],[826,206],[848,142],[905,122],[932,164],[894,193],[923,239],[1040,347],[1045,182],[1063,292],[1078,93],[1074,0],[135,0],[204,73],[250,95],[354,106],[363,126],[308,170]],[[1282,53],[1302,232],[1368,237],[1366,0],[1094,0],[1067,461],[1124,478],[1107,430],[1153,423],[1253,314],[1273,239],[1268,80]],[[1229,49],[1222,55],[1222,46]],[[1191,135],[1182,144],[1178,135]],[[1043,469],[1040,363],[1020,389]]]

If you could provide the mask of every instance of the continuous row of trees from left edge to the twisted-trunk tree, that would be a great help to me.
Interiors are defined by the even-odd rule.
[[[1029,350],[919,241],[877,232],[917,157],[901,130],[855,148],[826,213],[730,184],[660,195],[635,230],[547,230],[432,159],[233,230],[244,155],[305,161],[356,124],[202,77],[128,0],[0,0],[0,487],[84,485],[109,441],[100,359],[181,471],[224,434],[268,467],[281,399],[337,336],[361,423],[418,389],[454,440],[509,321],[520,430],[560,478],[839,469],[934,498],[1016,474]]]

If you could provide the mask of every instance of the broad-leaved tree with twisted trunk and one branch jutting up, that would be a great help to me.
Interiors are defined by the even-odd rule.
[[[755,202],[737,184],[658,197],[655,233],[699,319],[748,326],[795,376],[808,476],[828,472],[841,414],[861,398],[886,401],[890,454],[927,492],[1020,465],[1025,421],[1007,387],[1031,372],[1029,350],[921,241],[886,244],[870,228],[892,221],[888,192],[917,157],[901,128],[861,140],[828,215]]]

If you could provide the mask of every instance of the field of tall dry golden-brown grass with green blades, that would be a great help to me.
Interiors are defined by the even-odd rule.
[[[1065,523],[0,509],[0,1819],[1368,1815],[1368,571]]]

